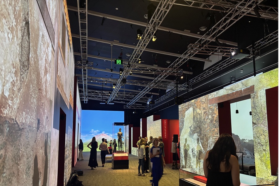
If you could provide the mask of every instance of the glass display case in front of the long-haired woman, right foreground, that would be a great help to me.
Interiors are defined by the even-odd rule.
[[[203,183],[205,182],[205,183]],[[240,186],[274,185],[274,181],[240,174]],[[179,169],[179,186],[206,186],[203,168]]]

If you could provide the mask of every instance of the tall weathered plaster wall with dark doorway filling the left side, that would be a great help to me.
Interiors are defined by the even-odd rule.
[[[69,179],[74,60],[65,2],[0,2],[0,185],[57,185],[59,117],[55,120],[54,105],[61,95],[68,117],[64,185]],[[65,41],[64,48],[58,39]],[[58,91],[57,84],[62,85]]]

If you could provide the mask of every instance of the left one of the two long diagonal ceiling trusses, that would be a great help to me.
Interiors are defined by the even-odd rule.
[[[112,94],[110,95],[108,102],[112,101],[116,95],[116,93],[119,91],[121,85],[120,82],[123,78],[126,78],[129,74],[129,72],[133,69],[132,64],[135,64],[137,60],[139,59],[140,55],[152,39],[153,35],[157,31],[158,27],[161,25],[162,21],[166,17],[167,13],[169,12],[170,8],[172,7],[175,0],[161,0],[158,4],[158,7],[153,13],[153,16],[148,23],[142,38],[139,40],[137,46],[135,47],[135,50],[133,51],[131,57],[130,57],[130,64],[131,67],[124,66],[124,70],[122,75],[120,76],[115,89],[113,90]],[[162,73],[168,73],[162,72]]]

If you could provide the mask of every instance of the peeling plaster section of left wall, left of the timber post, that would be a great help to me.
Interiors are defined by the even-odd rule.
[[[0,4],[0,185],[47,185],[51,41],[36,1]]]

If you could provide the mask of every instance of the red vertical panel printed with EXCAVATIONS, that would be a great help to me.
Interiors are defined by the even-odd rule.
[[[165,162],[170,163],[170,122],[168,119],[162,119],[162,138],[164,142]]]

